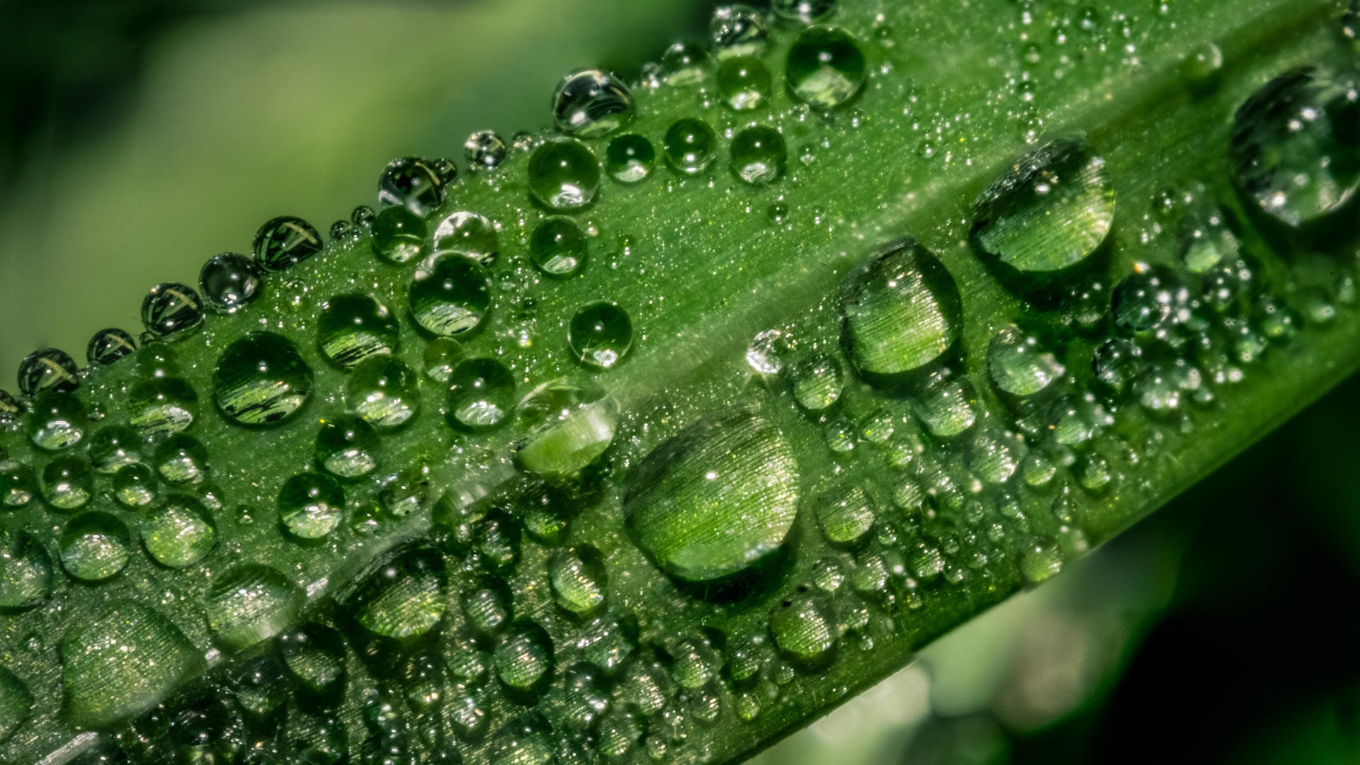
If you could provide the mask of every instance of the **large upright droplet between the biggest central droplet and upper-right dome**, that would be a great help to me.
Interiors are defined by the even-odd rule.
[[[898,374],[940,358],[959,338],[953,276],[915,240],[899,240],[842,287],[842,343],[861,373]]]

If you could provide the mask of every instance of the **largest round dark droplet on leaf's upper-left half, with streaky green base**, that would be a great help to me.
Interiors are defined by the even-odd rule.
[[[311,368],[292,340],[250,332],[227,346],[212,370],[212,396],[227,419],[268,427],[284,422],[311,396]]]

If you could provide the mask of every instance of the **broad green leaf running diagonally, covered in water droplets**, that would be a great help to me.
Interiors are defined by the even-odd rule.
[[[577,137],[389,166],[324,248],[267,222],[160,342],[20,370],[0,758],[806,724],[1355,368],[1338,15],[719,11],[635,103],[573,83]]]

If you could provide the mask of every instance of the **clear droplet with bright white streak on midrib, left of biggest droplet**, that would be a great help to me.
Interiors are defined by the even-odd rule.
[[[613,442],[617,417],[617,404],[604,389],[549,380],[515,410],[515,427],[526,434],[515,446],[515,461],[540,478],[570,481]]]

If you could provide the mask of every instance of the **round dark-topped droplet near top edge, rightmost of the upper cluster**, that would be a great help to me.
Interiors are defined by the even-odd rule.
[[[793,39],[785,78],[798,99],[817,109],[835,109],[860,93],[868,63],[860,41],[832,26],[811,26]]]

